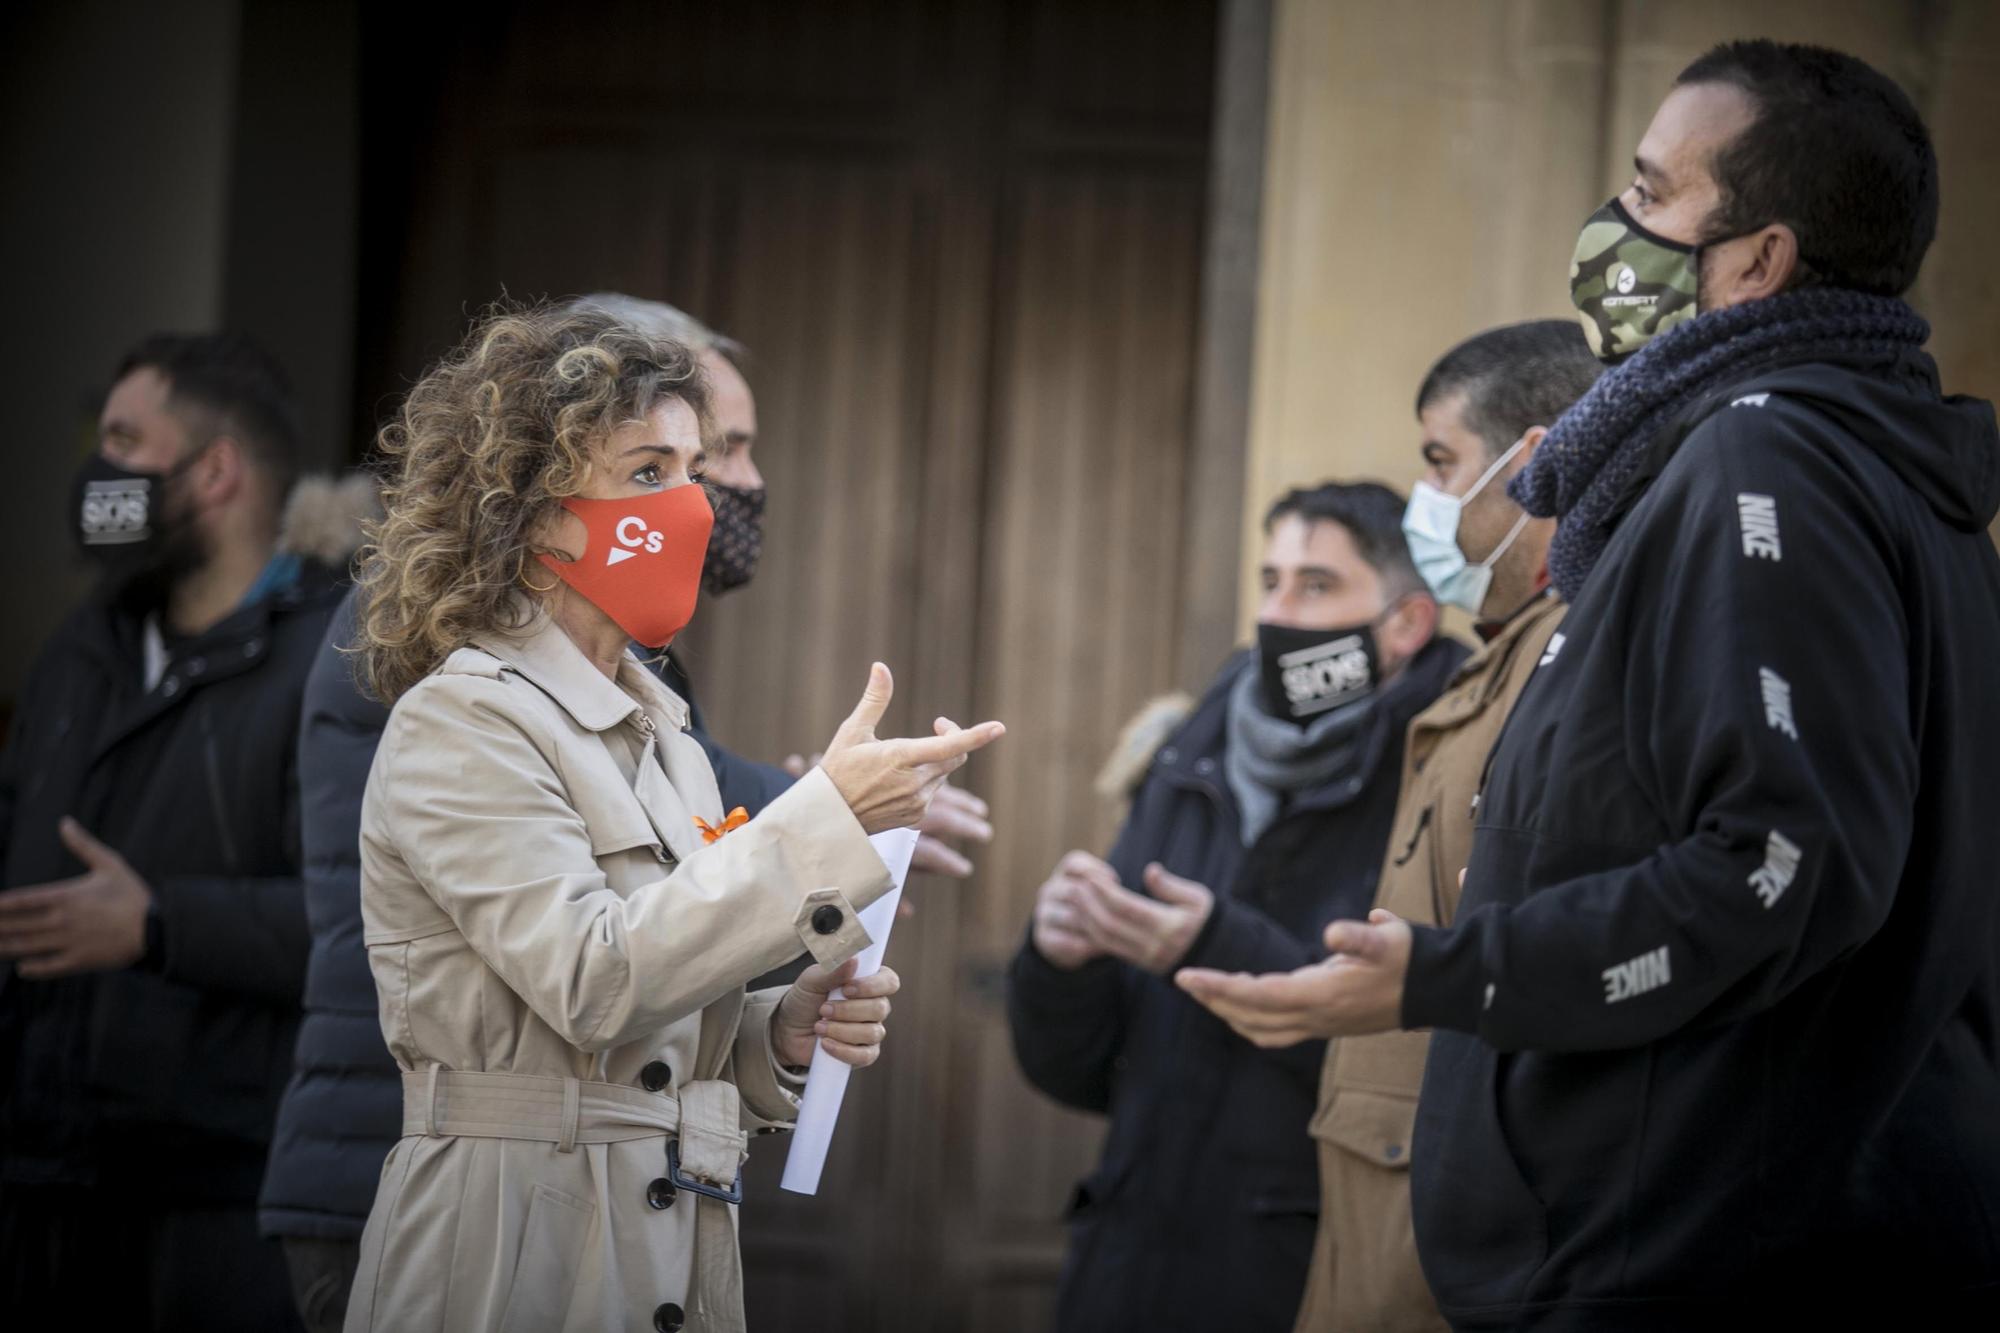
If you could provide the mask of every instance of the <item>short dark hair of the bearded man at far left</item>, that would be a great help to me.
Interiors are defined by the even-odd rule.
[[[152,334],[118,362],[116,384],[134,370],[156,370],[168,406],[188,430],[244,442],[282,498],[298,474],[300,422],[292,380],[278,358],[240,332]]]

